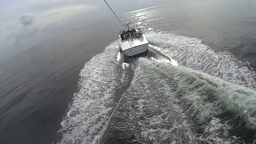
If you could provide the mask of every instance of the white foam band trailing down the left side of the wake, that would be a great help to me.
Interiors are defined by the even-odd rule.
[[[115,90],[126,76],[116,61],[117,44],[106,47],[85,63],[80,73],[79,92],[61,122],[59,143],[98,143],[116,108]]]

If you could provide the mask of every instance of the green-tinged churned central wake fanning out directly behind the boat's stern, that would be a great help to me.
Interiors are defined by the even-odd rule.
[[[140,58],[103,141],[241,142],[243,135],[230,130],[239,124],[254,129],[255,94],[193,69]],[[220,116],[227,111],[228,119]]]

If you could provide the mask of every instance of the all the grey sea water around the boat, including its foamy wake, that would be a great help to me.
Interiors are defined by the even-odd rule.
[[[255,6],[183,1],[122,14],[149,41],[130,59],[115,19],[17,55],[1,64],[0,142],[255,143]]]

